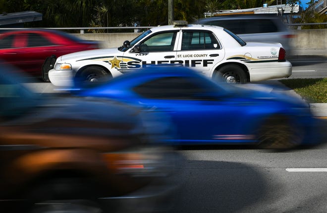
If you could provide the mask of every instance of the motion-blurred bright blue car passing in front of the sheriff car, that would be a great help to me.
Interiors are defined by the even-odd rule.
[[[106,84],[81,90],[96,96],[167,113],[174,145],[250,144],[290,148],[313,143],[315,129],[309,106],[298,98],[218,84],[176,66],[133,71]]]

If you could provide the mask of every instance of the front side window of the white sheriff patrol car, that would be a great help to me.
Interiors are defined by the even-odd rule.
[[[156,34],[140,44],[141,52],[173,51],[176,32]]]

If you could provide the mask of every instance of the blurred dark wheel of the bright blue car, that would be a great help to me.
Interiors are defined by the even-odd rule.
[[[268,118],[259,128],[258,146],[265,149],[289,149],[303,141],[303,132],[286,116]]]

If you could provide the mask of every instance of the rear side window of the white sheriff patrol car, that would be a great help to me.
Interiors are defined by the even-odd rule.
[[[220,45],[212,32],[184,31],[181,50],[220,49]]]

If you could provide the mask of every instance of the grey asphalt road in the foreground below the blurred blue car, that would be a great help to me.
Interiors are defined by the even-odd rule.
[[[326,213],[327,144],[276,152],[184,147],[171,213]],[[306,168],[301,171],[298,168]]]

